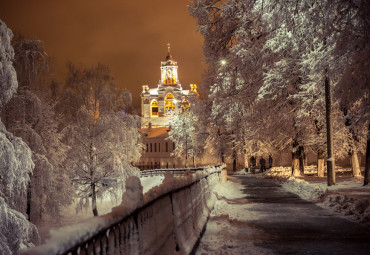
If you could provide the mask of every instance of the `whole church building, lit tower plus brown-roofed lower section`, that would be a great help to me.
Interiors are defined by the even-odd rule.
[[[178,77],[177,62],[173,60],[168,44],[165,61],[161,62],[161,80],[157,88],[143,85],[141,93],[141,129],[144,152],[138,167],[144,169],[178,168],[183,159],[171,156],[175,144],[167,140],[170,117],[190,107],[189,98],[198,95],[197,85],[183,90]]]

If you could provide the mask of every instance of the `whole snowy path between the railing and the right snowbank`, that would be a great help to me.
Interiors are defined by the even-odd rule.
[[[285,191],[270,180],[231,177],[197,255],[369,254],[370,230]]]

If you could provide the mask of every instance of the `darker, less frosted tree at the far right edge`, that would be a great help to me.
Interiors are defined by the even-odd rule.
[[[368,1],[336,1],[338,15],[334,28],[340,33],[335,47],[337,62],[341,63],[341,77],[334,97],[339,101],[345,125],[349,131],[348,151],[352,157],[354,175],[359,173],[357,153],[365,153],[365,180],[370,171],[370,6]],[[367,145],[366,144],[367,140]],[[357,171],[355,169],[357,168]]]

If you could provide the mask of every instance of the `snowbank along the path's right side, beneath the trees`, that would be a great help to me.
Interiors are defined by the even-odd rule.
[[[327,186],[326,177],[290,177],[290,172],[290,167],[274,167],[258,175],[275,179],[284,189],[303,199],[370,227],[370,186],[362,186],[363,178],[351,177],[350,169],[336,169],[337,184],[334,186]]]

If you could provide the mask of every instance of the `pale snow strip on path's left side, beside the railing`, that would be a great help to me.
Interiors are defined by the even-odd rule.
[[[253,244],[256,233],[247,222],[259,219],[261,214],[250,210],[251,204],[244,198],[243,188],[232,178],[214,187],[217,200],[196,255],[248,254],[251,250],[246,251],[246,247],[253,247],[253,254],[269,254],[269,250]]]

